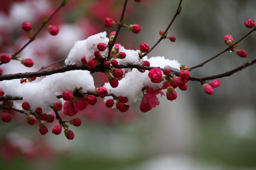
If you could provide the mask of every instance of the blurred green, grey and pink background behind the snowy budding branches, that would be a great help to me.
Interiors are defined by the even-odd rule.
[[[13,54],[22,47],[28,41],[22,23],[31,22],[35,32],[44,16],[61,2],[0,0],[0,53]],[[142,31],[135,35],[123,28],[116,43],[134,50],[143,42],[153,46],[178,4],[177,0],[128,1],[126,24],[139,24]],[[66,57],[75,41],[102,31],[116,31],[116,27],[104,27],[103,20],[119,20],[122,5],[120,0],[70,0],[49,23],[59,27],[59,35],[51,36],[45,28],[20,53],[21,58],[32,58],[35,65],[27,68],[11,61],[1,65],[3,74],[37,71]],[[168,31],[176,41],[164,39],[148,57],[165,56],[188,67],[197,65],[227,47],[225,35],[237,41],[250,31],[244,21],[256,20],[255,0],[184,0],[181,6],[181,14]],[[238,45],[238,49],[247,51],[247,58],[226,52],[191,75],[219,74],[255,58],[255,32]],[[51,68],[62,65],[64,62]],[[95,106],[74,116],[82,120],[80,127],[70,127],[74,140],[67,140],[63,132],[58,136],[51,133],[57,121],[46,124],[49,132],[41,135],[38,122],[31,126],[25,115],[12,112],[11,122],[0,122],[0,169],[256,169],[255,73],[253,65],[219,79],[222,84],[212,95],[207,95],[199,82],[189,81],[187,91],[176,90],[176,100],[159,96],[160,105],[147,113],[139,110],[140,101],[121,113],[98,100]],[[93,76],[97,87],[106,81],[100,73]]]

